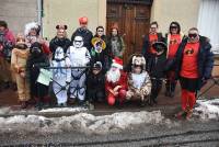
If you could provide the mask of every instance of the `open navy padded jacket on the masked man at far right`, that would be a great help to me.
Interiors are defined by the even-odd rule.
[[[178,46],[176,56],[175,56],[175,71],[176,77],[180,77],[180,71],[182,67],[182,59],[183,59],[183,50],[187,43],[187,37],[182,41]],[[198,52],[198,89],[199,90],[203,86],[203,81],[207,80],[211,77],[211,71],[214,67],[214,54],[210,50],[211,45],[207,37],[199,36],[199,52]]]

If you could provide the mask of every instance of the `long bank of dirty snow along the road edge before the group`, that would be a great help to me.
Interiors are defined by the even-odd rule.
[[[15,115],[7,118],[0,117],[0,132],[45,134],[76,131],[87,134],[106,134],[132,128],[140,124],[159,124],[163,118],[160,111],[119,112],[103,116],[78,113],[53,118],[37,115]]]

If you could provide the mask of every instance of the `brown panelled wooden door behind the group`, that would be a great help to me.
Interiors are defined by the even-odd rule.
[[[126,52],[124,61],[134,53],[141,53],[145,34],[149,31],[150,4],[135,2],[107,2],[106,31],[111,33],[113,23],[118,23],[119,34],[124,37]]]

